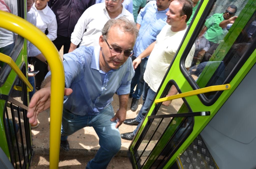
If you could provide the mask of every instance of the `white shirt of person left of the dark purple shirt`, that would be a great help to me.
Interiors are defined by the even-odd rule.
[[[57,38],[57,20],[50,7],[47,5],[44,9],[37,10],[34,3],[29,13],[33,12],[36,14],[36,27],[44,33],[47,29],[48,34],[46,36],[51,41],[55,40]]]

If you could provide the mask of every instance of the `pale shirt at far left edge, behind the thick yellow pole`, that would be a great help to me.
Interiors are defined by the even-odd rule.
[[[0,9],[14,15],[18,15],[17,0],[0,1]],[[14,33],[4,28],[0,28],[0,48],[14,42]]]

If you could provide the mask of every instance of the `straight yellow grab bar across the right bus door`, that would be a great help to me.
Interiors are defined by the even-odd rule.
[[[193,95],[197,95],[197,94],[201,94],[201,93],[220,91],[220,90],[229,90],[230,88],[231,88],[230,84],[209,86],[209,87],[202,88],[202,89],[197,89],[197,90],[193,90],[193,91],[189,91],[189,92],[185,92],[185,93],[176,94],[176,95],[173,95],[173,96],[168,96],[168,97],[161,98],[161,99],[156,99],[155,103],[160,103],[160,102],[173,100],[173,99],[178,99],[178,98],[184,98],[184,97],[187,97],[187,96],[193,96]]]

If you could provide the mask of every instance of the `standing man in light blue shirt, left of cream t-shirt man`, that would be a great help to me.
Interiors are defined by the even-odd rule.
[[[137,17],[137,28],[139,29],[139,36],[134,45],[134,56],[132,60],[136,59],[151,43],[156,41],[156,36],[166,25],[166,12],[172,0],[150,1],[140,10]],[[142,59],[140,65],[135,69],[135,75],[131,82],[130,97],[132,97],[131,110],[136,111],[138,108],[138,100],[140,99],[144,79],[143,74],[147,65],[149,56]],[[134,92],[135,86],[136,90]],[[134,92],[134,93],[133,93]]]

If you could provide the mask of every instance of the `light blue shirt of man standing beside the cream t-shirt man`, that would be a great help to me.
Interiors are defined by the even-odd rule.
[[[150,1],[140,10],[137,23],[141,25],[139,35],[134,45],[134,56],[138,57],[151,43],[156,41],[156,36],[166,25],[165,15],[169,8],[158,11],[156,1]],[[147,56],[148,58],[149,56]]]

